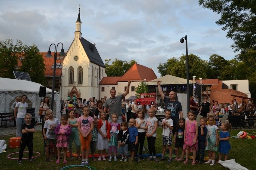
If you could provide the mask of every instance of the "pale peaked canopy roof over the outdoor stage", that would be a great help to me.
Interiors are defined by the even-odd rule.
[[[165,75],[163,77],[154,79],[152,81],[146,82],[148,85],[157,85],[156,81],[162,81],[161,85],[166,85],[166,84],[187,84],[187,79],[184,78],[179,78],[173,75]],[[192,84],[193,81],[189,81],[189,84]]]

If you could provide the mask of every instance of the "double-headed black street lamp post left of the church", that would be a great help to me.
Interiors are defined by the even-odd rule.
[[[55,44],[51,44],[54,45],[54,64],[53,64],[53,86],[52,86],[52,101],[51,101],[51,110],[53,111],[53,102],[54,102],[54,87],[55,87],[55,71],[56,71],[56,60],[57,60],[57,51],[58,51],[58,45],[62,44],[61,42],[59,42],[57,44],[57,46]],[[49,51],[47,52],[47,54],[45,55],[45,57],[53,57],[50,51],[51,45],[49,47]],[[56,50],[56,51],[55,51]],[[59,56],[62,57],[66,57],[67,55],[64,53],[64,49],[63,49],[63,44],[62,44],[62,49],[60,50],[60,53],[58,54]]]

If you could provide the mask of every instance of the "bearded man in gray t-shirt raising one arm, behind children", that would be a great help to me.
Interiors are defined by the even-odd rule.
[[[122,107],[121,107],[121,103],[122,103],[122,99],[129,94],[129,89],[130,89],[130,84],[131,81],[128,81],[127,87],[126,87],[126,91],[121,94],[116,96],[116,90],[115,89],[111,89],[110,90],[110,95],[111,97],[108,98],[105,103],[104,103],[104,112],[107,112],[108,109],[108,113],[109,113],[109,117],[108,117],[108,122],[112,122],[111,120],[111,114],[116,113],[118,115],[117,118],[117,122],[118,123],[122,123]]]

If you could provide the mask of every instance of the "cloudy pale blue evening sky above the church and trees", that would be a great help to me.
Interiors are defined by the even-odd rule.
[[[159,63],[186,54],[180,42],[185,35],[188,54],[203,60],[212,54],[226,60],[236,55],[233,41],[215,24],[220,14],[197,0],[1,0],[0,41],[21,40],[40,52],[62,42],[66,52],[75,37],[79,4],[82,37],[96,44],[104,63],[136,60],[160,77]]]

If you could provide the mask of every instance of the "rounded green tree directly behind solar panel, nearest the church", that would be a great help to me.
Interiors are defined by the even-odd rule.
[[[29,73],[33,82],[46,85],[47,81],[44,77],[44,59],[42,54],[39,53],[38,47],[36,45],[24,45],[23,51],[23,59],[21,60],[22,66],[19,71]]]

